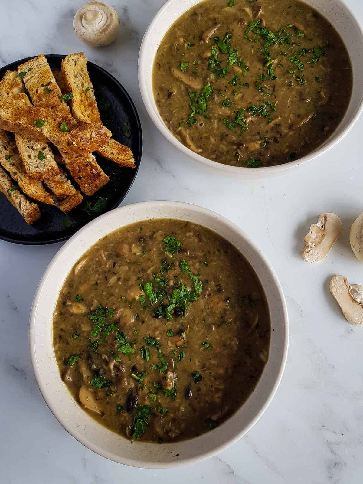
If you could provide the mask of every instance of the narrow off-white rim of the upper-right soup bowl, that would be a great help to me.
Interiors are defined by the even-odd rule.
[[[146,111],[148,112],[151,121],[154,123],[154,125],[157,127],[157,129],[160,131],[160,133],[166,137],[166,139],[173,144],[178,150],[182,151],[184,154],[189,156],[190,158],[193,158],[197,162],[209,166],[210,168],[217,169],[219,171],[223,171],[226,174],[230,175],[238,175],[242,176],[245,178],[270,178],[282,174],[286,174],[289,172],[291,169],[297,167],[297,166],[302,166],[308,161],[312,161],[315,158],[317,158],[320,154],[326,153],[330,151],[332,148],[334,148],[337,143],[339,143],[345,136],[348,135],[349,131],[353,128],[355,123],[358,121],[359,117],[361,116],[363,112],[363,91],[361,95],[361,99],[359,104],[356,106],[354,112],[351,115],[351,119],[348,122],[347,126],[344,128],[344,130],[338,135],[334,135],[334,133],[337,131],[339,125],[343,121],[344,117],[346,116],[346,113],[348,111],[348,108],[351,104],[351,98],[349,100],[349,104],[347,107],[347,111],[344,115],[344,117],[341,119],[339,122],[338,126],[335,128],[335,131],[331,135],[331,138],[329,141],[327,141],[325,144],[322,146],[318,147],[315,151],[312,151],[311,153],[306,154],[302,158],[299,158],[296,161],[290,161],[282,165],[276,165],[276,166],[269,166],[269,167],[261,167],[261,168],[249,168],[249,167],[244,167],[244,166],[230,166],[230,165],[224,165],[222,163],[218,163],[216,161],[210,160],[209,158],[205,158],[204,156],[201,156],[200,154],[190,150],[187,148],[181,141],[179,141],[175,136],[173,136],[170,131],[167,129],[165,123],[162,121],[161,117],[158,115],[158,109],[156,107],[156,103],[154,100],[154,97],[150,97],[148,95],[148,89],[146,87],[146,80],[144,76],[144,66],[146,62],[149,62],[150,60],[145,56],[145,50],[147,49],[147,46],[150,42],[149,37],[151,35],[151,32],[153,32],[155,29],[155,24],[159,20],[159,17],[163,15],[164,11],[169,8],[169,5],[172,3],[175,3],[178,0],[167,0],[162,7],[157,11],[157,13],[154,15],[154,17],[151,19],[145,34],[143,36],[141,45],[140,45],[140,50],[139,50],[139,56],[138,56],[138,65],[137,65],[137,73],[138,73],[138,82],[139,82],[139,88],[140,88],[140,93],[141,93],[141,98],[144,103],[144,106],[146,108]],[[196,5],[197,3],[201,2],[203,0],[196,0],[193,5]],[[348,13],[352,16],[354,21],[356,22],[356,25],[358,27],[358,30],[360,31],[361,38],[363,39],[363,26],[361,22],[359,21],[357,15],[353,12],[351,7],[346,3],[345,0],[334,0],[337,3],[341,3],[344,8],[348,11]],[[192,5],[192,6],[193,6]],[[189,8],[192,8],[192,6],[188,6],[185,8],[183,13],[187,12]],[[173,24],[170,24],[169,28]],[[161,41],[161,39],[160,39]],[[346,44],[345,44],[346,45]],[[348,50],[348,54],[350,54],[350,46],[346,45],[346,48]],[[154,58],[155,59],[155,58]],[[152,60],[152,63],[154,62],[154,59]],[[354,82],[354,72],[353,72],[353,82]],[[353,84],[354,86],[354,84]],[[353,92],[353,91],[352,91]]]

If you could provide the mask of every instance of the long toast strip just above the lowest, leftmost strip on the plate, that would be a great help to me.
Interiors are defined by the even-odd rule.
[[[61,201],[55,195],[48,193],[41,181],[34,180],[25,171],[15,143],[2,130],[0,130],[0,164],[10,173],[22,191],[38,202],[54,205],[61,209],[61,211],[68,212],[82,201],[82,195],[79,192]]]

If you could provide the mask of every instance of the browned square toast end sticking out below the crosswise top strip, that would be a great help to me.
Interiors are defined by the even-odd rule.
[[[93,195],[109,181],[92,153],[84,158],[64,156],[65,166],[86,195]]]

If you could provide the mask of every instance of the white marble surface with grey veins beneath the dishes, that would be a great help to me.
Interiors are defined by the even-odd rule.
[[[227,451],[198,465],[150,471],[93,454],[61,427],[40,395],[30,364],[28,318],[38,281],[61,244],[0,241],[0,483],[362,483],[363,330],[350,326],[329,293],[335,273],[363,284],[349,227],[363,211],[361,119],[333,151],[269,181],[221,179],[169,145],[149,120],[137,85],[144,30],[163,0],[113,1],[122,33],[103,50],[82,45],[72,18],[82,2],[2,0],[0,66],[30,55],[84,50],[132,96],[144,134],[142,165],[124,204],[174,199],[219,212],[270,258],[284,287],[290,349],[272,404]],[[361,21],[361,0],[347,0]],[[5,8],[4,8],[5,7]],[[319,213],[336,212],[343,233],[330,256],[309,265],[302,239]]]

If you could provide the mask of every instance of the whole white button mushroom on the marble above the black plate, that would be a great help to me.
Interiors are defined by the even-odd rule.
[[[120,19],[112,7],[91,1],[80,8],[73,19],[73,29],[79,40],[91,47],[104,47],[116,39]]]

